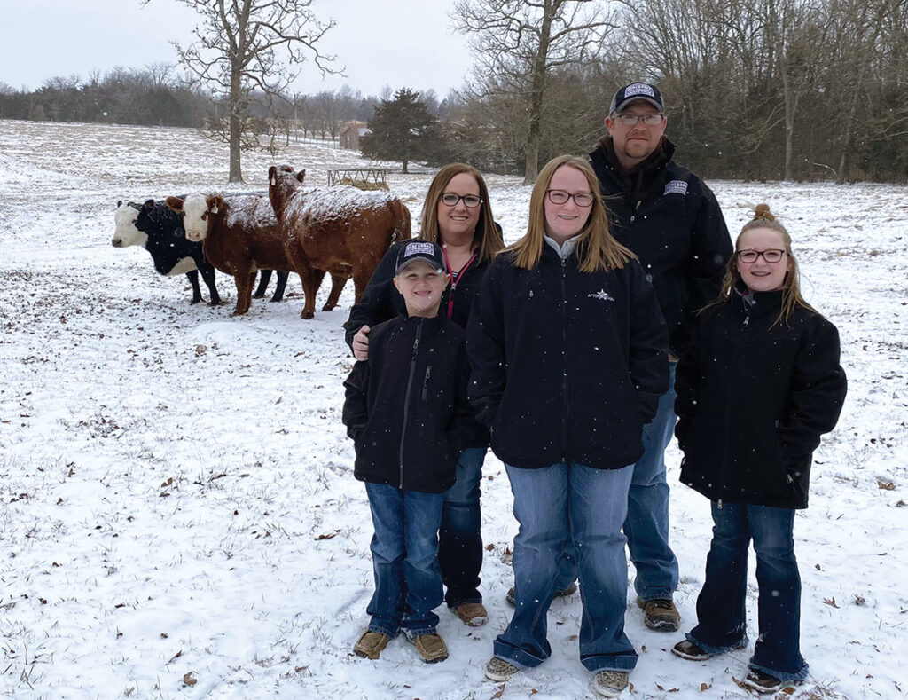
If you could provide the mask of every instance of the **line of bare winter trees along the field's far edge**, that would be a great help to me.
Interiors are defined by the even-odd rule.
[[[183,2],[203,23],[232,20]],[[296,5],[285,20],[302,35],[301,9],[310,13],[316,31],[303,48],[336,72],[314,45],[331,24]],[[374,127],[363,144],[372,157],[462,160],[531,182],[538,163],[592,150],[617,87],[645,80],[666,98],[678,160],[706,177],[908,181],[908,0],[459,0],[450,18],[469,37],[474,70],[440,102],[405,87],[288,93],[292,71],[278,71],[273,42],[256,64],[231,54],[243,31],[261,36],[250,6],[221,48],[204,47],[221,74],[178,47],[182,76],[152,66],[53,78],[30,93],[0,84],[0,118],[196,126],[231,143],[232,179],[243,149],[277,149],[291,130],[336,138],[358,120]],[[287,64],[301,62],[299,47],[287,50]]]

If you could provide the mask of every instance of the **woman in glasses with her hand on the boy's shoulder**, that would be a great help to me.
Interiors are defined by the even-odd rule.
[[[422,205],[419,237],[441,246],[451,276],[439,314],[465,328],[479,282],[489,262],[504,248],[501,228],[492,217],[489,189],[476,168],[450,163],[436,173]],[[347,344],[357,360],[369,358],[371,326],[406,315],[393,281],[398,253],[406,244],[395,243],[385,253],[344,324]],[[468,626],[480,626],[489,619],[479,592],[483,553],[479,483],[487,449],[489,432],[477,425],[476,439],[460,455],[457,481],[445,495],[439,530],[445,602]]]

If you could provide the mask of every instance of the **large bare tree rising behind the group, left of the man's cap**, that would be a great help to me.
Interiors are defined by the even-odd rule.
[[[458,0],[451,19],[459,33],[471,35],[476,92],[509,92],[522,103],[524,181],[534,182],[548,77],[558,68],[597,58],[614,28],[605,5],[597,0]]]

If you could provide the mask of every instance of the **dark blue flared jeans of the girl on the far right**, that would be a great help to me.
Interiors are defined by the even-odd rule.
[[[795,559],[795,511],[713,501],[713,541],[696,599],[697,626],[687,635],[710,654],[747,644],[747,547],[754,540],[760,636],[750,667],[781,681],[803,680],[801,576]]]

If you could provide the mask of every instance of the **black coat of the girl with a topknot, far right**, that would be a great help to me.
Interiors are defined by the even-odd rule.
[[[803,307],[774,326],[781,300],[707,309],[678,362],[681,480],[712,500],[806,508],[811,454],[842,410],[838,331]]]

